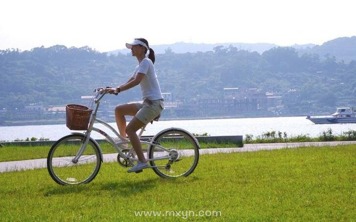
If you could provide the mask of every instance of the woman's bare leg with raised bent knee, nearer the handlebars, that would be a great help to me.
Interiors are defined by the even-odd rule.
[[[139,110],[135,103],[126,103],[118,105],[115,108],[115,120],[118,125],[121,137],[126,138],[126,119],[125,115],[135,116]]]

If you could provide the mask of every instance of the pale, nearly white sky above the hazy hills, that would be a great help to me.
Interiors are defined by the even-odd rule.
[[[322,44],[356,35],[355,0],[1,0],[0,49],[193,43]]]

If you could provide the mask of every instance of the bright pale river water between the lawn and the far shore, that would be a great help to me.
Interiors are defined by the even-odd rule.
[[[116,127],[116,123],[110,123]],[[101,124],[95,124],[95,127],[107,132],[109,129]],[[211,136],[243,135],[253,134],[261,135],[263,132],[275,130],[286,132],[288,136],[309,134],[311,137],[320,135],[321,132],[332,129],[334,134],[340,134],[349,129],[356,130],[356,123],[346,124],[314,124],[305,117],[273,117],[273,118],[241,118],[241,119],[214,119],[214,120],[179,120],[179,121],[158,121],[148,124],[143,135],[154,135],[168,127],[183,128],[191,133],[208,133]],[[66,125],[27,125],[27,126],[1,126],[0,140],[25,139],[27,137],[45,137],[50,140],[70,134]],[[92,137],[102,139],[103,136],[94,132]]]

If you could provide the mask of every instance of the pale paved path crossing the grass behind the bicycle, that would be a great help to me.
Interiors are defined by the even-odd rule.
[[[296,148],[296,147],[303,147],[303,146],[336,146],[336,145],[347,145],[347,144],[356,144],[356,141],[256,143],[256,144],[244,144],[243,147],[239,147],[239,148],[201,149],[199,150],[199,153],[215,154],[215,153],[251,152],[251,151],[259,151],[259,150]],[[104,154],[103,159],[104,162],[113,162],[116,161],[117,156],[118,154],[116,153]],[[28,170],[28,169],[46,168],[46,167],[47,167],[47,159],[0,162],[0,172]]]

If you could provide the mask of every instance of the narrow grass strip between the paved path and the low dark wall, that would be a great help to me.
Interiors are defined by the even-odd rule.
[[[108,153],[117,153],[116,149],[113,145],[107,142],[99,143],[103,154]],[[218,142],[201,142],[201,148],[217,148],[217,147],[238,147],[239,144],[226,142],[226,143],[218,143]],[[147,148],[147,145],[142,145],[143,148]],[[0,162],[4,161],[21,161],[21,160],[32,160],[32,159],[40,159],[47,158],[48,151],[51,146],[18,146],[18,145],[6,145],[4,147],[0,147]],[[131,144],[130,147],[131,148]]]

